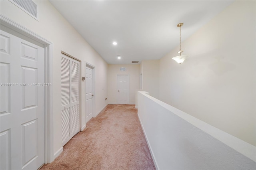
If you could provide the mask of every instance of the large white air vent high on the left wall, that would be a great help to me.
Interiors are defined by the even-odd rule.
[[[9,0],[14,5],[18,6],[24,12],[38,20],[38,10],[37,5],[32,0]]]

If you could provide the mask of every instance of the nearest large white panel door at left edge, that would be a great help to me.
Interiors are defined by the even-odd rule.
[[[0,36],[0,169],[38,169],[44,164],[44,46],[3,26]]]

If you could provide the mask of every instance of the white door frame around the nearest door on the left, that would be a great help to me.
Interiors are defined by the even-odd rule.
[[[0,14],[0,24],[44,45],[44,83],[52,83],[53,43]],[[44,87],[44,163],[54,160],[53,152],[53,88]]]

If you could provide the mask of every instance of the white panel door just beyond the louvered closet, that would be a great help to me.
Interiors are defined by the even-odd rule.
[[[85,67],[85,121],[92,119],[93,97],[93,74],[92,68]]]

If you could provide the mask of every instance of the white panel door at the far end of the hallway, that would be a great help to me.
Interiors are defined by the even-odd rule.
[[[117,75],[118,104],[129,104],[129,75]]]

